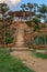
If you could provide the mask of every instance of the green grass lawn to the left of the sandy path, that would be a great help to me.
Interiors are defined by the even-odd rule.
[[[34,72],[21,60],[12,58],[10,51],[0,49],[0,72]]]

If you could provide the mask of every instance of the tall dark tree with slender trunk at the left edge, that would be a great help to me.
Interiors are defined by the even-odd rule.
[[[7,31],[10,32],[10,25],[12,24],[13,18],[9,14],[9,7],[7,3],[0,3],[0,20],[2,24],[0,25],[2,44],[5,44]]]

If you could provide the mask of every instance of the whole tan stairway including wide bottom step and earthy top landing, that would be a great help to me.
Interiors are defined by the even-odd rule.
[[[30,32],[30,28],[26,23],[24,22],[16,22],[15,24],[17,24],[16,27],[16,32],[15,32],[15,45],[14,49],[15,50],[28,50],[27,45],[25,44],[25,30],[27,30]]]

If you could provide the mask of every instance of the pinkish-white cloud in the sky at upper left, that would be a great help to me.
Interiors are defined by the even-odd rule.
[[[0,3],[5,2],[8,3],[10,10],[15,10],[15,7],[19,4],[21,0],[0,0]]]

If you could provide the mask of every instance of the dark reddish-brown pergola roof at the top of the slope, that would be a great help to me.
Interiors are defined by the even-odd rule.
[[[15,16],[15,17],[28,17],[30,16],[30,12],[28,11],[14,11],[14,12],[10,12],[11,16]],[[31,12],[31,16],[33,17],[35,13],[34,12]]]

